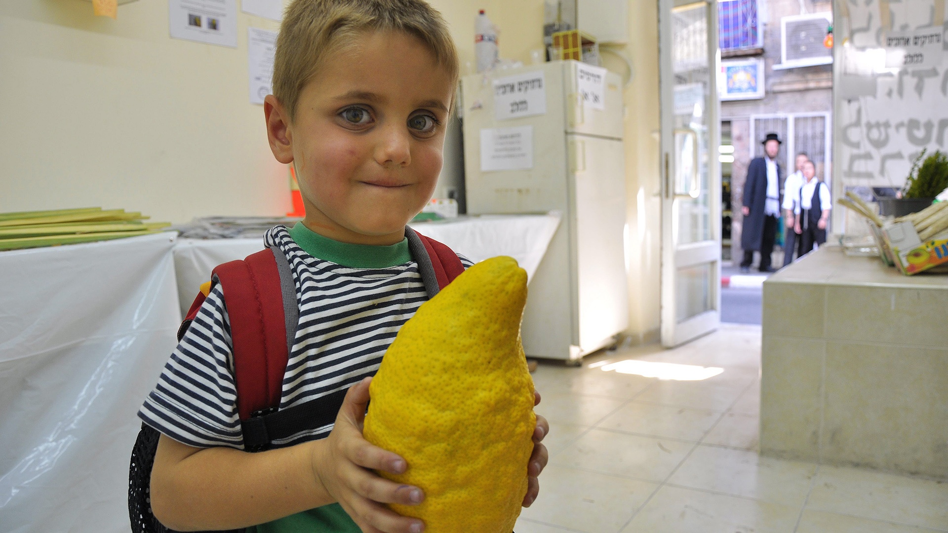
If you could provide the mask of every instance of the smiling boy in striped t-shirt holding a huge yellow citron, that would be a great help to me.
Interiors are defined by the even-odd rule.
[[[162,524],[424,530],[383,505],[417,505],[421,489],[372,471],[410,465],[361,429],[371,376],[427,299],[405,226],[434,190],[457,78],[445,22],[422,0],[296,0],[286,10],[264,114],[274,156],[296,168],[306,218],[265,235],[289,261],[300,306],[280,407],[349,392],[335,424],[244,451],[227,287],[215,286],[139,412],[162,433],[151,479]],[[549,427],[540,416],[537,426],[523,505],[547,461],[539,441]]]

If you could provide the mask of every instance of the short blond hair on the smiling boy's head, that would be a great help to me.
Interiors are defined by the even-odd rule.
[[[273,95],[289,119],[319,64],[362,31],[401,31],[417,37],[458,80],[458,52],[441,13],[423,0],[295,0],[286,8],[273,64]],[[453,102],[452,102],[453,107]]]

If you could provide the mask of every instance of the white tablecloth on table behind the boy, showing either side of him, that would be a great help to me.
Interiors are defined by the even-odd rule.
[[[477,263],[498,255],[509,255],[533,278],[546,248],[559,226],[560,215],[483,215],[438,222],[411,224],[411,228]],[[178,239],[174,247],[178,298],[184,315],[201,284],[210,281],[210,271],[221,263],[244,259],[264,248],[264,238]]]

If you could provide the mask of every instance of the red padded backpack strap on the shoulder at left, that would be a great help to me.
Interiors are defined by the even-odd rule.
[[[280,406],[289,344],[295,334],[295,327],[288,333],[275,255],[283,256],[283,252],[267,248],[243,261],[220,265],[211,274],[212,281],[224,288],[241,420]],[[292,307],[298,309],[296,289],[292,292]],[[247,437],[253,440],[253,435],[245,434],[245,444]]]

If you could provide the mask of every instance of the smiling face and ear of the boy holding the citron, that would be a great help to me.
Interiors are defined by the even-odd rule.
[[[292,124],[266,97],[270,147],[296,167],[305,225],[343,242],[401,241],[441,172],[453,89],[420,40],[373,31],[323,61]]]

